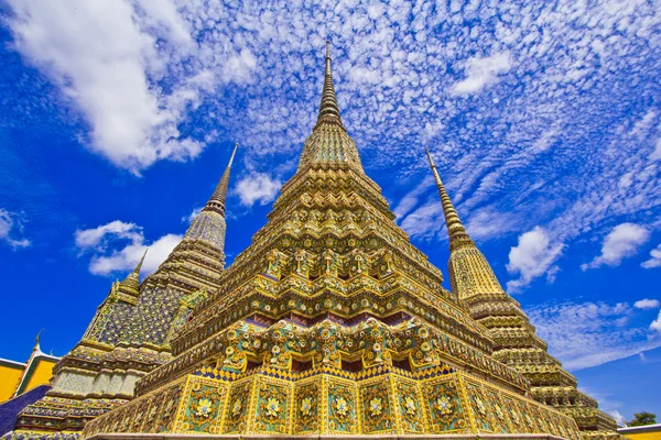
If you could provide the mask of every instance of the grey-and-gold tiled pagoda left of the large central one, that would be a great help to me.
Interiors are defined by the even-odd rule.
[[[172,359],[175,329],[207,292],[221,286],[225,199],[236,151],[181,243],[142,283],[147,253],[126,279],[111,285],[80,341],[53,369],[52,388],[21,411],[7,437],[77,438],[88,420],[132,399],[138,380]]]

